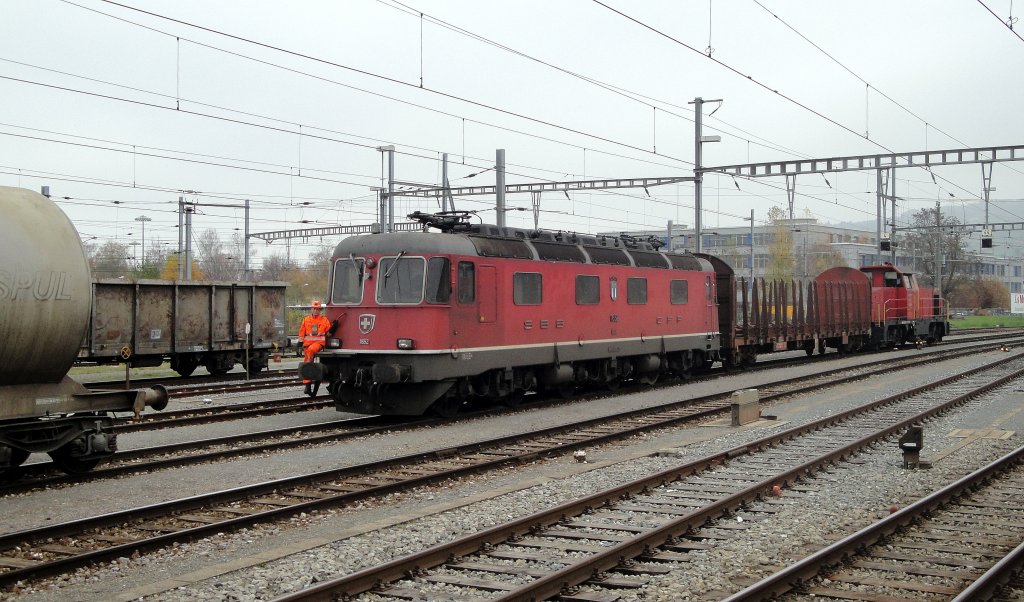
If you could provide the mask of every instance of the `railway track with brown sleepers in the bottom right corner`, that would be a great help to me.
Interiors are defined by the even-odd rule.
[[[990,600],[1024,569],[1024,447],[812,554],[730,602]],[[883,573],[885,576],[880,577]]]

